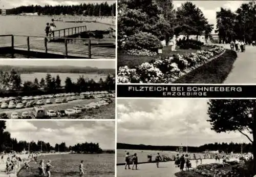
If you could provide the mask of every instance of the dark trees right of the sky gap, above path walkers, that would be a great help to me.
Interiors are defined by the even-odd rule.
[[[256,40],[256,3],[243,3],[235,12],[221,8],[216,14],[219,38],[225,42]]]

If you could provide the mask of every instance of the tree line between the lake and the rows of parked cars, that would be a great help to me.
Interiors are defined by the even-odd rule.
[[[103,81],[102,78],[99,82],[95,82],[93,79],[85,78],[80,75],[77,82],[73,82],[70,77],[65,80],[65,86],[61,85],[61,79],[59,75],[52,77],[51,74],[46,74],[45,78],[34,81],[25,81],[22,83],[20,74],[12,69],[10,72],[0,71],[0,90],[11,90],[15,92],[36,92],[38,90],[44,90],[49,93],[56,93],[60,91],[66,92],[87,92],[87,91],[110,91],[115,90],[115,79],[110,74]]]

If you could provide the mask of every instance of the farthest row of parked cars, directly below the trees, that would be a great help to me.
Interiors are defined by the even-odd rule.
[[[62,94],[52,94],[52,95],[37,95],[37,96],[24,96],[24,97],[0,97],[0,103],[9,102],[11,100],[40,100],[40,99],[49,99],[49,98],[59,98],[59,97],[70,97],[70,96],[84,96],[84,95],[104,95],[109,94],[107,91],[97,91],[97,92],[82,92],[82,93],[62,93]],[[114,95],[114,94],[112,94]]]

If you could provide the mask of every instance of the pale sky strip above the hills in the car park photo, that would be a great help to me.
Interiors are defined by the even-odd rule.
[[[31,66],[59,66],[96,67],[100,69],[115,69],[115,60],[39,60],[39,59],[0,59],[0,65],[31,65]]]

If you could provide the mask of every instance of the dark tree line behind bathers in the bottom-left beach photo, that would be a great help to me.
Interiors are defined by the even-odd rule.
[[[36,151],[56,151],[68,152],[75,151],[77,153],[102,153],[103,150],[99,147],[99,143],[77,143],[74,146],[67,146],[65,142],[60,144],[51,145],[49,142],[44,141],[17,141],[11,138],[10,132],[6,131],[6,121],[0,121],[0,152],[14,150],[22,152],[23,150],[36,152]]]

